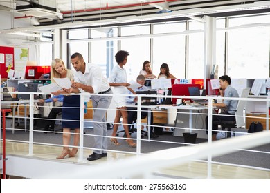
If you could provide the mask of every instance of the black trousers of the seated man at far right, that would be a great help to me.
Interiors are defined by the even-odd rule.
[[[231,115],[231,116],[229,116]],[[218,125],[214,124],[215,121],[235,121],[235,115],[228,112],[221,112],[219,114],[213,114],[212,116],[212,134],[217,134]],[[206,116],[206,134],[208,134],[208,116]]]

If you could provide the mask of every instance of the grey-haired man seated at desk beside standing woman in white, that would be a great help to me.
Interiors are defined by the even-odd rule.
[[[148,90],[148,88],[144,85],[145,84],[145,77],[142,74],[138,75],[136,81],[137,81],[137,83],[139,83],[141,85],[141,87],[136,88],[134,90],[134,92],[147,91]],[[130,92],[129,94],[132,94],[132,92]],[[137,97],[134,97],[134,96],[128,96],[127,97],[127,104],[134,104],[134,103],[137,103],[137,101],[138,101]],[[137,116],[137,108],[127,107],[127,110],[128,110],[127,123],[128,123],[128,127],[129,127],[129,130],[130,130],[130,125],[132,124],[134,119],[136,119],[136,116]],[[147,111],[148,111],[147,108],[142,108],[141,109],[141,116],[147,116],[147,113],[148,113]],[[151,123],[150,123],[150,125],[153,125],[153,112],[151,112]],[[150,130],[150,137],[151,138],[159,137],[156,134],[154,134],[152,127],[151,127],[151,130]]]

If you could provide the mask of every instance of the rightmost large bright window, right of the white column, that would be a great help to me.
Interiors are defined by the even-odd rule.
[[[229,20],[229,26],[270,21],[270,15]],[[243,28],[228,32],[228,75],[232,78],[269,77],[270,27]]]

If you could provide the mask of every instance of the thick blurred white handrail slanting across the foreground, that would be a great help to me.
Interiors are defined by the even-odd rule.
[[[48,175],[40,176],[40,179],[130,179],[143,174],[147,176],[157,168],[165,168],[168,165],[180,165],[192,159],[205,159],[208,154],[219,156],[237,151],[237,148],[252,148],[256,145],[269,143],[270,132],[260,132],[250,136],[238,136],[237,139],[224,139],[212,144],[201,144],[197,146],[185,146],[161,150],[147,155],[141,155],[114,163],[101,163],[89,170],[50,172]],[[130,167],[132,165],[132,167]],[[141,167],[141,166],[144,167]],[[73,175],[70,175],[70,174]],[[210,178],[211,176],[208,176]]]

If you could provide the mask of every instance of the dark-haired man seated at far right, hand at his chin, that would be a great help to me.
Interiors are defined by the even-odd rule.
[[[219,93],[222,97],[239,97],[235,88],[231,87],[231,78],[228,75],[219,77]],[[222,103],[213,104],[216,108],[221,108],[222,112],[212,117],[212,130],[218,130],[215,121],[235,121],[237,100],[222,100]],[[228,115],[228,116],[226,116]],[[231,116],[230,116],[231,115]],[[208,116],[206,116],[206,130],[208,130]],[[212,141],[217,140],[217,131],[212,132]]]

